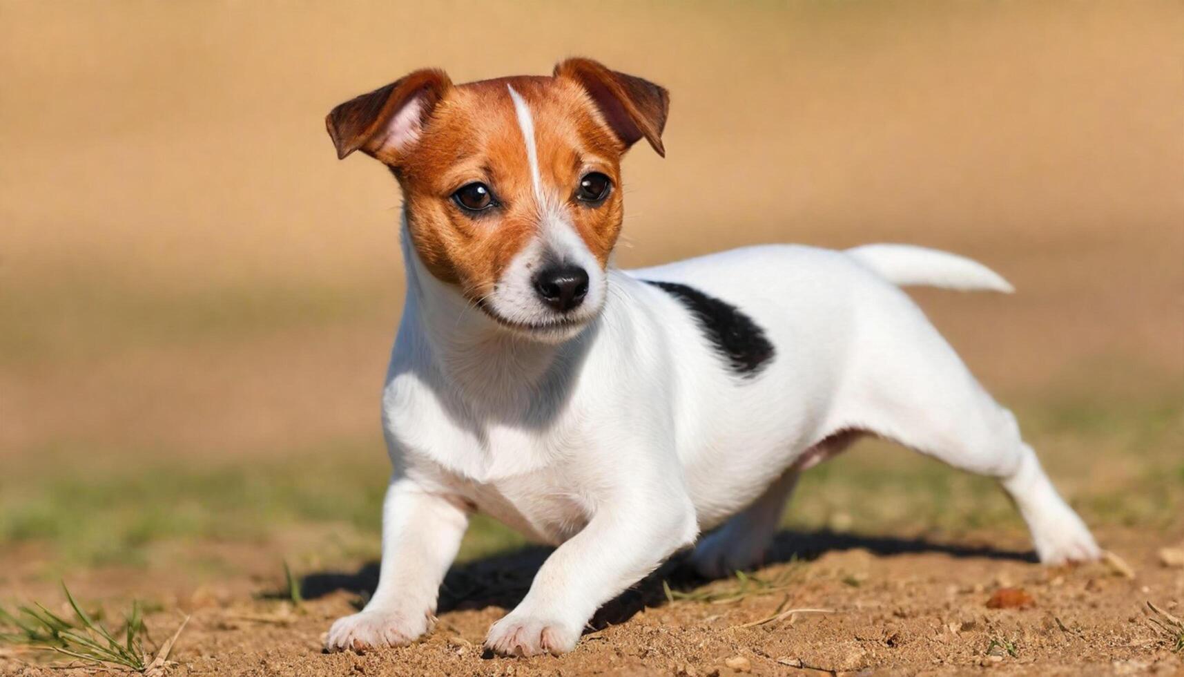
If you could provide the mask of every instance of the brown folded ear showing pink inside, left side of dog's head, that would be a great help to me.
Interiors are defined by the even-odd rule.
[[[451,87],[442,70],[417,70],[337,106],[324,117],[337,159],[362,151],[395,165],[419,140],[432,108]]]

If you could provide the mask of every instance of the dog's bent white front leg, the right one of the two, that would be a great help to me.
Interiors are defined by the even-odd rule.
[[[646,494],[605,504],[539,569],[530,592],[489,628],[485,646],[503,656],[571,651],[601,605],[694,542],[697,523],[686,496]]]

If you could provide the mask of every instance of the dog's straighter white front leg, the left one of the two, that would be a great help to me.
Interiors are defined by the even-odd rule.
[[[405,477],[392,478],[382,503],[378,589],[365,609],[333,624],[326,649],[399,646],[430,631],[440,582],[468,520],[459,502]]]

